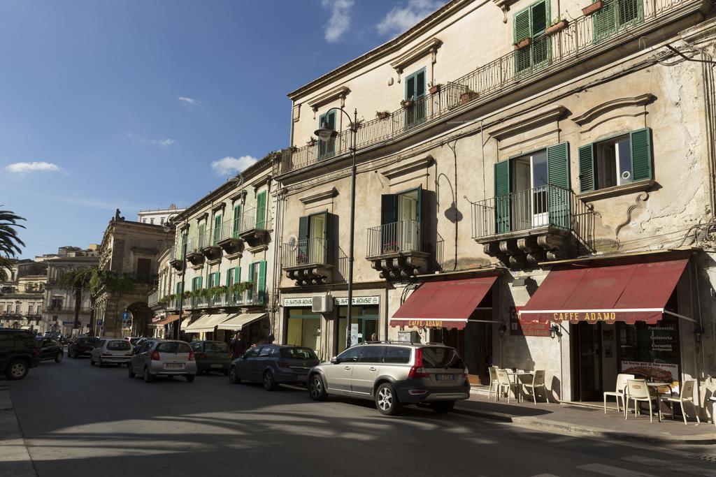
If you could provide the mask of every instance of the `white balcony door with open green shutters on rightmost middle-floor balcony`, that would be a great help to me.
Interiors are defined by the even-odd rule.
[[[569,228],[569,143],[495,164],[495,232],[546,225]],[[491,221],[492,217],[477,220]],[[485,223],[486,226],[489,226]]]

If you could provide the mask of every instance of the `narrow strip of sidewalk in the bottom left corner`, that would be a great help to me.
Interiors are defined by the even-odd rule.
[[[0,381],[0,477],[35,477],[7,385]]]

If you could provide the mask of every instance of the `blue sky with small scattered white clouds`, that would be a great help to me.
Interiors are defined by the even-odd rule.
[[[0,0],[0,205],[22,257],[189,205],[289,142],[286,93],[440,0]]]

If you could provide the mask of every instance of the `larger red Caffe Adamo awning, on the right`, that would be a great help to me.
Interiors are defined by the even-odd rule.
[[[686,258],[553,270],[520,310],[520,318],[657,323],[688,262]]]

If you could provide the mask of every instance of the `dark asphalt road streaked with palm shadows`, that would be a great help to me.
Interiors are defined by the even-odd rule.
[[[144,383],[87,358],[3,380],[34,468],[50,476],[716,476],[716,463],[407,408],[311,401],[223,375]],[[0,471],[2,466],[0,447]]]

